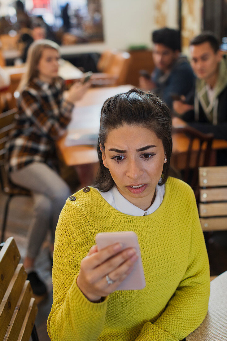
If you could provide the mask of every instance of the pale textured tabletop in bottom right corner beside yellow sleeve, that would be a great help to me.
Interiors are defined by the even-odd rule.
[[[208,312],[200,326],[186,337],[186,341],[227,340],[227,271],[210,283]]]

